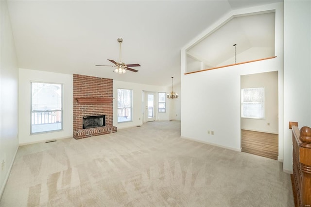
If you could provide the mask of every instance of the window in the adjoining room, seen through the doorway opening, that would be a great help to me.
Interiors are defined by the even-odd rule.
[[[242,118],[264,118],[264,88],[242,88],[241,90]]]

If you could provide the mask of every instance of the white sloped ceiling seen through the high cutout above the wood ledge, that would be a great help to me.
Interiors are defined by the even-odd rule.
[[[187,52],[192,57],[204,61],[207,68],[213,68],[222,65],[228,59],[234,59],[235,53],[237,56],[244,56],[238,56],[237,63],[254,60],[247,59],[254,56],[255,59],[274,56],[274,47],[275,12],[269,12],[234,17]],[[246,55],[244,52],[251,48],[254,49],[251,51],[253,54]]]

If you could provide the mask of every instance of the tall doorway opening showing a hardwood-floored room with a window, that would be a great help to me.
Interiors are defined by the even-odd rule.
[[[278,72],[241,76],[241,151],[277,160]]]

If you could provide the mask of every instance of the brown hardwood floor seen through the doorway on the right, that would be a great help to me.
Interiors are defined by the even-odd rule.
[[[278,135],[242,129],[242,152],[277,160]]]

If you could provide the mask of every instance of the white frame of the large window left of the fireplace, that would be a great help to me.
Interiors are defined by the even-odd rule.
[[[56,109],[56,110],[33,110],[33,84],[34,83],[40,83],[40,84],[53,84],[53,85],[60,85],[61,86],[61,109]],[[43,82],[43,81],[31,81],[30,82],[30,135],[36,135],[36,134],[45,134],[45,133],[53,133],[53,132],[59,132],[64,130],[64,111],[63,111],[63,106],[64,106],[64,84],[63,83],[53,83],[53,82]],[[49,130],[49,131],[40,131],[40,132],[33,132],[33,113],[53,113],[53,112],[61,112],[61,128],[60,129],[55,129],[55,130]],[[45,115],[44,115],[45,116]],[[42,117],[42,115],[41,115]]]

